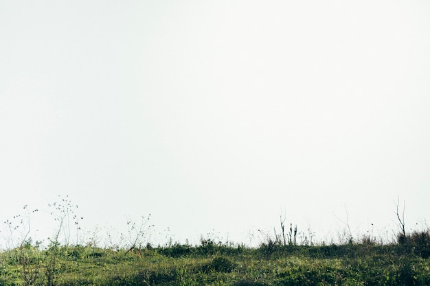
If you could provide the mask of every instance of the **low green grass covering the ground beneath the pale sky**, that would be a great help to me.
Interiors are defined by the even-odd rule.
[[[126,253],[26,245],[0,253],[0,285],[430,285],[430,259],[415,249],[372,243],[246,248],[205,241]]]

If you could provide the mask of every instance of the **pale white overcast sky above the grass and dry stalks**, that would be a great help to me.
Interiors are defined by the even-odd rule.
[[[179,241],[430,217],[429,1],[1,1],[0,39],[2,222],[58,194]]]

